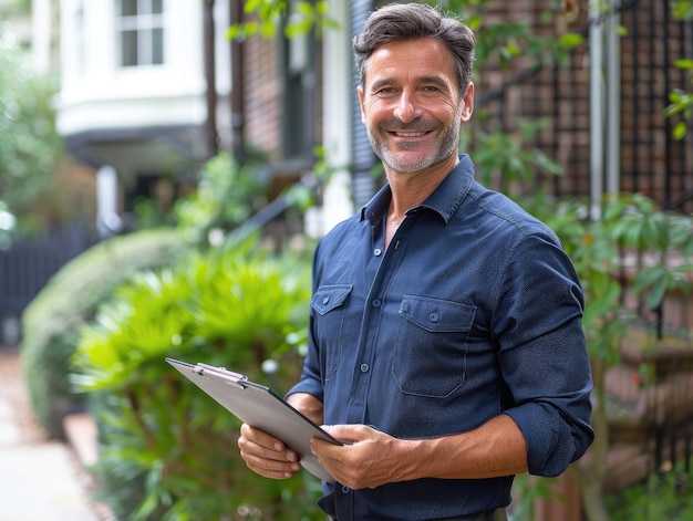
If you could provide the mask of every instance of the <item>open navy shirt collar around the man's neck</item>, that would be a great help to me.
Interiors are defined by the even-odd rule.
[[[437,212],[447,223],[457,211],[474,180],[474,164],[467,154],[459,155],[459,164],[451,170],[433,194],[416,208],[427,208]],[[383,186],[375,196],[361,208],[361,220],[368,219],[373,226],[383,218],[392,199],[390,185]],[[410,208],[412,210],[413,208]],[[408,211],[408,210],[407,210]]]

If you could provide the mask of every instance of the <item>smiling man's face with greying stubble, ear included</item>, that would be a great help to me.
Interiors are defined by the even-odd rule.
[[[359,100],[377,157],[395,171],[414,173],[457,154],[474,88],[461,100],[451,52],[437,39],[423,38],[377,48]]]

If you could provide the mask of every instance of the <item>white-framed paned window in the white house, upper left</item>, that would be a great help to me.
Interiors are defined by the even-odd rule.
[[[164,63],[164,0],[121,0],[117,11],[121,66]]]

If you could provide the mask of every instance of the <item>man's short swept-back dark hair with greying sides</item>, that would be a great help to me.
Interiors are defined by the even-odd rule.
[[[361,83],[365,83],[369,59],[380,45],[391,42],[437,38],[453,54],[461,96],[472,82],[475,38],[472,30],[439,9],[423,3],[391,3],[374,11],[353,39],[354,60]]]

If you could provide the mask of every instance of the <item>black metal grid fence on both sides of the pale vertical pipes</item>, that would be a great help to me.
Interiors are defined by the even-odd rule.
[[[550,2],[523,1],[523,15],[539,20]],[[618,3],[618,2],[617,2]],[[514,8],[514,11],[516,9]],[[662,208],[693,212],[693,123],[683,139],[673,136],[681,115],[666,117],[670,94],[691,91],[691,72],[675,66],[679,59],[693,59],[693,23],[676,21],[670,0],[630,0],[617,8],[617,25],[622,28],[617,49],[619,94],[618,189],[641,192]],[[508,14],[509,15],[509,14]],[[477,107],[488,111],[488,121],[511,131],[518,117],[546,118],[547,125],[536,145],[556,158],[563,168],[560,177],[541,178],[541,185],[556,196],[590,197],[590,27],[604,23],[606,17],[581,17],[565,31],[582,33],[587,43],[575,49],[566,66],[545,66],[527,60],[519,67],[490,70],[477,85]],[[552,25],[537,31],[556,34]],[[604,69],[597,74],[608,74]],[[604,111],[609,110],[609,105]],[[606,114],[597,114],[606,117]],[[613,136],[606,135],[604,139]],[[606,187],[604,187],[606,188]]]

